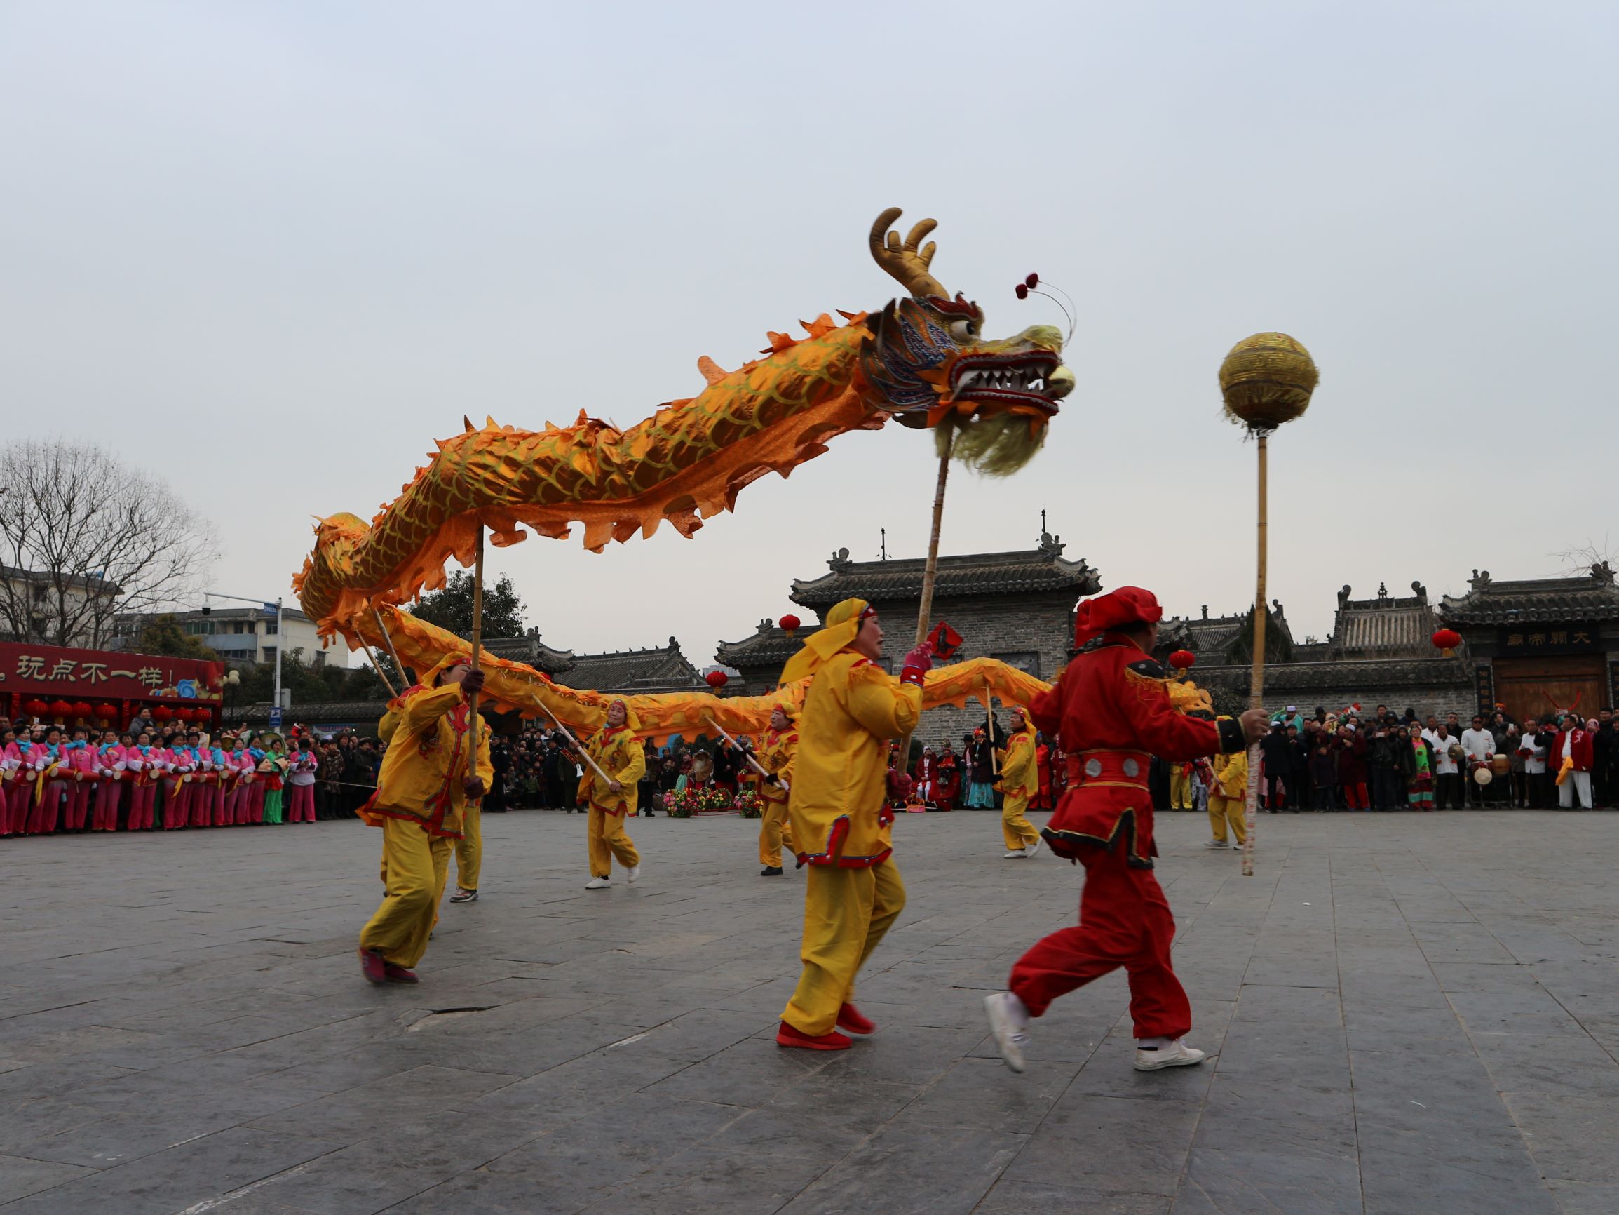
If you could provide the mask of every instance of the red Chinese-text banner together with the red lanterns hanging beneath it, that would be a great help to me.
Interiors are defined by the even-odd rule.
[[[13,721],[123,729],[136,713],[149,713],[210,727],[223,680],[223,663],[0,642],[0,714]]]

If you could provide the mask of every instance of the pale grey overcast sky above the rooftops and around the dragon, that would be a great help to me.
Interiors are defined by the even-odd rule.
[[[897,287],[877,211],[991,335],[1080,306],[1078,387],[1010,481],[952,480],[944,551],[1039,510],[1106,586],[1253,596],[1247,334],[1321,387],[1273,441],[1271,588],[1556,573],[1614,526],[1611,5],[0,5],[0,441],[159,470],[274,598],[311,518],[369,517],[463,413],[628,426]],[[743,491],[695,539],[495,551],[578,651],[706,663],[847,546],[926,546],[897,426]],[[578,533],[576,533],[578,535]]]

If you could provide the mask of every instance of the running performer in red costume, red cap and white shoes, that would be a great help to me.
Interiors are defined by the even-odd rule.
[[[1154,755],[1177,763],[1243,750],[1268,723],[1263,710],[1248,710],[1240,724],[1175,713],[1166,672],[1153,659],[1162,616],[1140,586],[1081,603],[1073,646],[1096,638],[1101,645],[1069,663],[1057,685],[1030,706],[1041,731],[1060,734],[1069,768],[1069,789],[1041,834],[1052,852],[1085,865],[1085,889],[1078,927],[1041,940],[1012,967],[1012,990],[984,998],[989,1029],[1012,1071],[1023,1071],[1030,1017],[1120,966],[1130,975],[1137,1069],[1203,1059],[1182,1042],[1192,1004],[1169,962],[1175,920],[1153,876],[1148,763]]]

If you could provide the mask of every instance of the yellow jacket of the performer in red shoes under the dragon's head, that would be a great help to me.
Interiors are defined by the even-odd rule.
[[[910,734],[920,718],[921,688],[853,650],[821,664],[798,716],[788,776],[787,813],[803,849],[800,863],[866,868],[887,860],[894,850],[886,813],[889,739]]]

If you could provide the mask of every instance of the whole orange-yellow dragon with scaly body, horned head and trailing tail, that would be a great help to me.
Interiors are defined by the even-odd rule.
[[[1062,366],[1062,334],[1033,326],[1015,337],[983,337],[983,313],[950,295],[931,274],[936,227],[921,220],[902,240],[889,225],[899,207],[871,228],[873,258],[908,295],[876,313],[818,316],[806,337],[771,334],[764,358],[722,371],[698,360],[708,387],[661,407],[646,421],[617,429],[580,413],[572,426],[520,431],[468,423],[440,441],[403,492],[366,523],[337,514],[316,526],[316,546],[293,578],[300,606],[324,638],[343,637],[398,650],[416,671],[436,667],[468,645],[400,611],[444,585],[445,562],[471,565],[479,528],[497,546],[516,544],[525,528],[565,538],[581,523],[584,544],[601,551],[669,523],[685,536],[703,518],[729,510],[750,481],[787,476],[826,450],[837,434],[877,429],[890,418],[907,426],[949,428],[970,467],[1005,471],[1043,442],[1057,402],[1073,387]],[[387,637],[384,635],[387,630]],[[609,697],[552,684],[521,663],[479,658],[484,698],[502,710],[544,710],[580,731],[606,721]],[[997,695],[1026,701],[1044,687],[994,659],[933,672],[924,706],[963,705]],[[701,693],[627,697],[641,737],[699,732],[712,716],[735,732],[759,732],[776,703],[797,708],[803,688],[769,697],[714,698]]]

